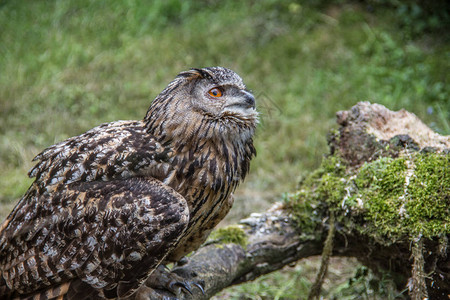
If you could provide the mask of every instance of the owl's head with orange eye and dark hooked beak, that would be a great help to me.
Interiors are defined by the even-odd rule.
[[[248,129],[252,135],[258,113],[255,98],[239,75],[227,68],[211,67],[178,74],[152,102],[145,120],[154,132],[164,127],[189,134],[205,126],[205,130],[222,134]]]

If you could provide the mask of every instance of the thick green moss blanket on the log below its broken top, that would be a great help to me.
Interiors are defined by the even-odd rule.
[[[409,153],[383,157],[346,171],[338,156],[325,158],[301,189],[287,198],[302,232],[337,213],[338,222],[378,241],[450,233],[449,155]],[[353,173],[352,173],[353,172]],[[353,222],[353,220],[361,220]]]

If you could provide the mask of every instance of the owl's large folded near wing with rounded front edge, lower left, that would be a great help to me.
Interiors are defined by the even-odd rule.
[[[153,178],[74,182],[26,200],[0,232],[0,296],[128,296],[189,220],[185,199]]]

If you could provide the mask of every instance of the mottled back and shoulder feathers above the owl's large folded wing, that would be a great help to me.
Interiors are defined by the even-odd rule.
[[[69,138],[37,155],[35,186],[107,181],[141,175],[163,178],[171,149],[146,132],[142,121],[117,121]]]

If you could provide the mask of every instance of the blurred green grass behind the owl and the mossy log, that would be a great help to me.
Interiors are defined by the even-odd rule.
[[[31,184],[37,153],[143,118],[191,67],[235,70],[261,112],[258,156],[225,223],[294,190],[327,153],[336,111],[358,101],[405,108],[450,134],[450,13],[432,2],[0,0],[0,217]],[[218,298],[302,298],[316,268],[302,262]],[[345,299],[355,268],[336,259],[324,296]],[[367,282],[348,299],[372,297]]]

